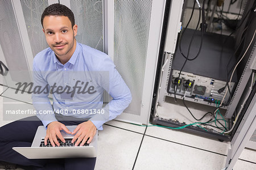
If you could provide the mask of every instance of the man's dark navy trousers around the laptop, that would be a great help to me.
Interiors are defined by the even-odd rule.
[[[57,120],[64,125],[79,125],[84,121]],[[0,128],[0,161],[31,167],[32,169],[94,169],[96,158],[67,159],[27,159],[14,151],[13,147],[30,147],[38,126],[42,126],[38,117],[32,116],[11,122]]]

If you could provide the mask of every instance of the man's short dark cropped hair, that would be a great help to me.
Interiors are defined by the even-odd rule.
[[[45,16],[49,15],[57,15],[57,16],[67,16],[68,19],[71,21],[72,28],[75,25],[75,18],[73,12],[65,5],[61,5],[59,3],[53,3],[52,5],[48,6],[42,16],[41,16],[41,24],[43,26],[43,20]],[[44,27],[44,26],[43,26]]]

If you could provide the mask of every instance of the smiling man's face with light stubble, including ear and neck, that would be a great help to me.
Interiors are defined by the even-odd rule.
[[[67,16],[45,16],[43,20],[43,31],[49,47],[61,60],[69,59],[75,52],[75,36],[77,25],[72,28],[71,21]]]

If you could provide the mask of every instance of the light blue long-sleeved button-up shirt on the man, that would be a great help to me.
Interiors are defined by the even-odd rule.
[[[32,101],[36,115],[46,127],[57,121],[55,113],[89,118],[98,130],[117,117],[131,103],[131,92],[105,53],[76,43],[76,50],[64,65],[50,49],[33,61]],[[102,108],[104,90],[113,99]],[[48,95],[52,93],[53,108]]]

